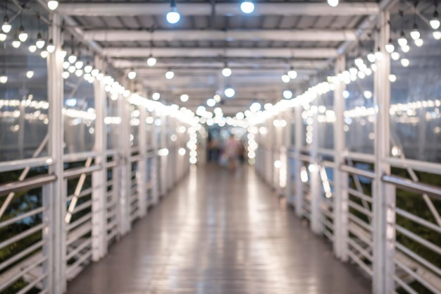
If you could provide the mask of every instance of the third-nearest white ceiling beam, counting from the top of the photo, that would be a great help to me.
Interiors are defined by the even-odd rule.
[[[302,59],[325,59],[337,56],[333,48],[142,48],[142,47],[111,47],[103,50],[104,55],[111,57],[272,57]]]

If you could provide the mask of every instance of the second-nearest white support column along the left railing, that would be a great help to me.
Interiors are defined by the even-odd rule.
[[[95,60],[95,64],[99,63],[99,59]],[[104,118],[106,117],[107,99],[104,91],[103,82],[95,80],[94,82],[95,97],[95,145],[94,151],[97,152],[95,164],[101,164],[99,171],[92,173],[92,259],[94,262],[99,261],[107,254],[107,133]]]

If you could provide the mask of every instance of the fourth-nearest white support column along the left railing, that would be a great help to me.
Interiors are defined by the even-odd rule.
[[[138,162],[137,172],[137,188],[138,188],[138,203],[139,203],[139,217],[147,214],[147,125],[145,119],[147,118],[147,111],[144,106],[138,106],[139,110],[139,154],[141,160]]]

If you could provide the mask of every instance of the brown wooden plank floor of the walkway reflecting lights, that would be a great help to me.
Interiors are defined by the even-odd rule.
[[[370,292],[252,169],[214,166],[192,170],[68,285],[69,294]]]

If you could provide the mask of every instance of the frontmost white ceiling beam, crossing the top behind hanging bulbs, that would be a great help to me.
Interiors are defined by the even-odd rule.
[[[211,16],[209,3],[178,3],[182,16]],[[161,16],[170,11],[168,3],[61,3],[57,11],[68,16]],[[216,15],[243,15],[239,3],[218,3]],[[373,2],[343,2],[331,7],[323,2],[259,3],[251,16],[367,16],[379,12]]]

